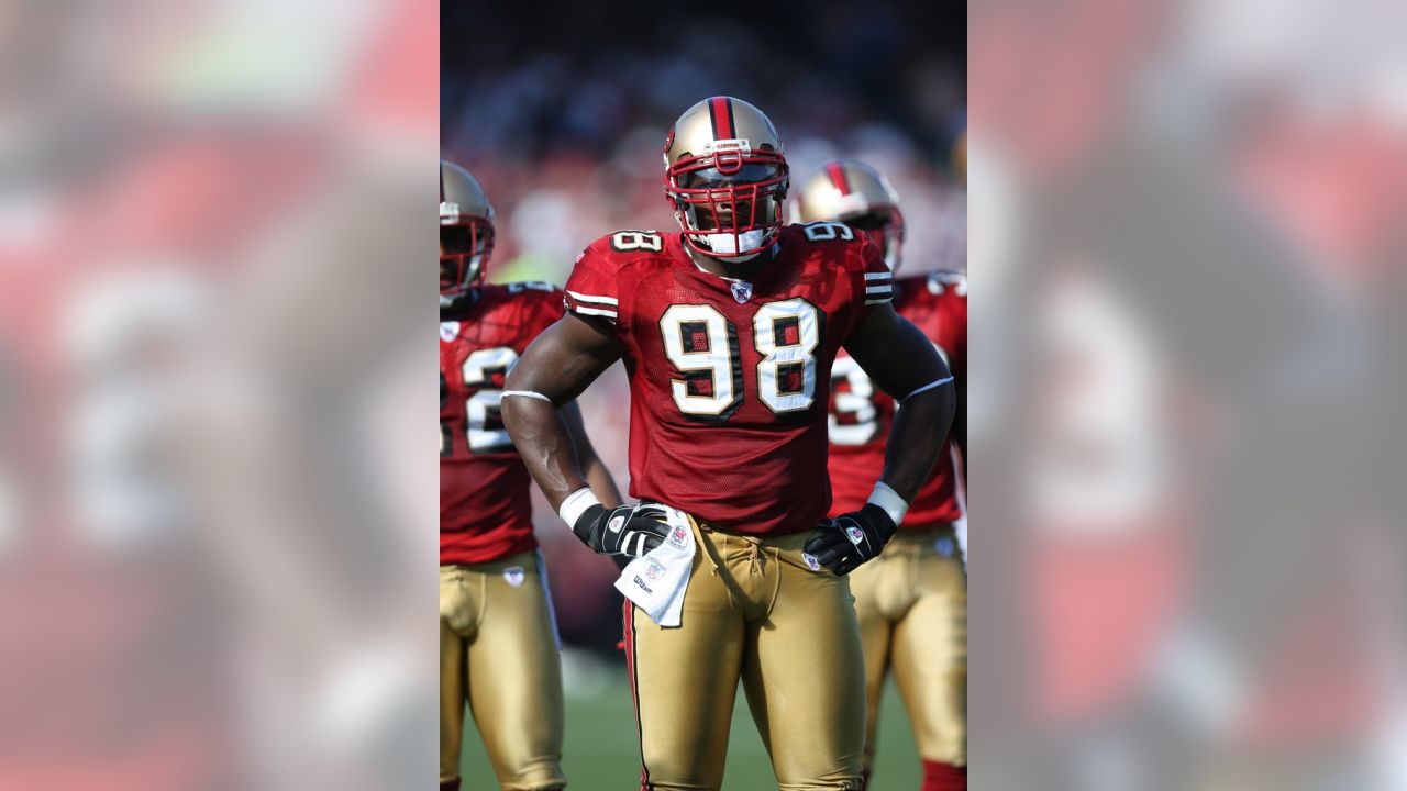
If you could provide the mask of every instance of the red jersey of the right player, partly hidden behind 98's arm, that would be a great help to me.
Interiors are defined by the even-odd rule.
[[[967,379],[967,276],[933,272],[895,280],[893,307],[933,341],[953,374]],[[893,398],[875,387],[848,355],[830,370],[830,515],[865,504],[884,470],[885,441],[893,422]],[[961,394],[958,396],[962,397]],[[902,528],[923,529],[962,517],[964,498],[957,445],[948,438],[933,477],[909,504]]]

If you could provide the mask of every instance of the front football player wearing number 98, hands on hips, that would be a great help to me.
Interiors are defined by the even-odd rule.
[[[929,479],[951,374],[891,307],[874,242],[840,222],[784,225],[787,159],[760,110],[726,96],[695,104],[664,166],[682,231],[618,231],[578,256],[568,312],[509,374],[504,421],[594,550],[654,560],[689,536],[678,624],[626,605],[640,787],[719,788],[741,681],[779,788],[857,790],[864,659],[847,574],[879,555]],[[832,521],[826,394],[841,348],[905,408],[884,473],[864,483],[871,495]],[[647,510],[597,501],[557,418],[618,359],[630,494],[688,517],[667,540]],[[620,584],[663,586],[673,569],[658,557]]]

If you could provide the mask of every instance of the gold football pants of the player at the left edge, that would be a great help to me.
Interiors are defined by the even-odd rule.
[[[440,785],[459,778],[464,705],[499,787],[563,788],[561,660],[540,557],[440,566]],[[466,790],[488,788],[470,777]]]

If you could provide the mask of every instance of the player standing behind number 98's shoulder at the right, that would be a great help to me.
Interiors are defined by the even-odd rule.
[[[899,267],[905,224],[889,182],[854,160],[825,165],[794,204],[802,221],[840,221],[874,239]],[[933,272],[893,280],[893,308],[923,331],[948,362],[958,387],[954,439],[909,507],[885,553],[850,580],[865,646],[865,774],[874,766],[875,723],[892,670],[923,759],[923,791],[967,788],[967,574],[954,528],[965,522],[961,459],[967,372],[967,276]],[[832,515],[860,508],[858,481],[884,469],[895,401],[875,390],[844,350],[830,369]]]

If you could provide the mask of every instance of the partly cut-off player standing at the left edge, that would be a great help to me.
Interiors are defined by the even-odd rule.
[[[561,318],[547,283],[484,283],[494,210],[440,160],[440,788],[457,790],[466,704],[504,788],[563,788],[561,666],[532,532],[529,477],[498,417],[504,377]],[[575,404],[574,463],[619,502]]]

